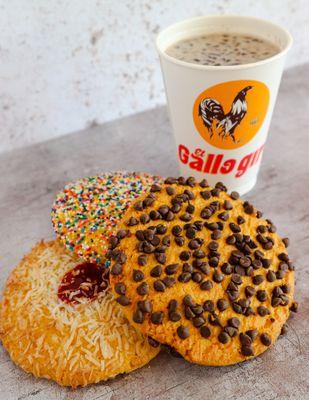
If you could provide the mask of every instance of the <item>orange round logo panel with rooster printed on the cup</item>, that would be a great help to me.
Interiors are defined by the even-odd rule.
[[[237,149],[260,129],[269,103],[269,90],[259,81],[220,83],[202,92],[193,107],[199,134],[212,146]]]

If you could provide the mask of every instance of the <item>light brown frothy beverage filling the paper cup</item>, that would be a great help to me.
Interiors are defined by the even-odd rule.
[[[259,37],[214,33],[176,42],[166,53],[193,64],[240,65],[265,60],[279,51],[279,47]]]

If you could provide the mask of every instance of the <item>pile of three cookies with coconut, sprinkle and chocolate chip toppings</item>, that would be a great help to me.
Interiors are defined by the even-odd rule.
[[[257,356],[297,311],[271,220],[206,180],[109,173],[68,184],[57,239],[8,279],[0,338],[37,377],[76,387],[142,367],[163,347],[223,366]]]

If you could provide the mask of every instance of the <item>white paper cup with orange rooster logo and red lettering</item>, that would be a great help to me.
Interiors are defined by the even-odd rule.
[[[257,36],[280,51],[265,60],[235,66],[191,64],[166,54],[179,40],[216,32]],[[212,185],[221,181],[240,194],[248,192],[256,183],[291,35],[253,17],[205,16],[168,27],[158,35],[156,44],[180,173],[206,178]],[[224,115],[209,115],[218,103]],[[237,109],[245,110],[245,116],[232,132],[233,105],[234,114]]]

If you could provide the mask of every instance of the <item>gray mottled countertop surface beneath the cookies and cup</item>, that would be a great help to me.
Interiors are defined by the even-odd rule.
[[[291,239],[300,312],[276,345],[232,367],[191,365],[162,352],[148,366],[75,391],[17,368],[0,346],[0,399],[309,398],[309,66],[285,73],[257,186],[246,198]],[[64,116],[65,118],[65,116]],[[177,175],[165,108],[0,156],[0,285],[22,255],[52,237],[50,207],[63,185],[106,170]]]

